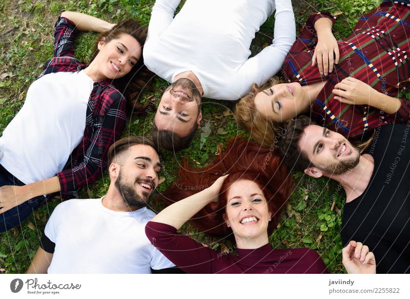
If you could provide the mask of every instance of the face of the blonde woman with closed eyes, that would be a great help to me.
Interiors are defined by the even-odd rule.
[[[276,84],[255,96],[255,108],[265,118],[275,122],[289,121],[305,110],[299,83]]]

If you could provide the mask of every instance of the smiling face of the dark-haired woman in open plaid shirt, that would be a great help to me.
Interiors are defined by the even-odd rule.
[[[92,64],[98,66],[98,79],[117,79],[128,74],[142,54],[141,45],[129,34],[121,33],[109,42],[98,43]]]

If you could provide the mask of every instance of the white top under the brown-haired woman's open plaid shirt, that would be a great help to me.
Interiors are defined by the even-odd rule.
[[[25,184],[63,170],[84,136],[94,82],[83,71],[34,81],[26,102],[0,138],[0,164]]]

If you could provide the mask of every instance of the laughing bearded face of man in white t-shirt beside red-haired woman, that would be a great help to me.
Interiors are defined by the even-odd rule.
[[[145,206],[158,186],[160,170],[157,152],[148,145],[133,145],[118,159],[120,167],[115,187],[129,206]]]

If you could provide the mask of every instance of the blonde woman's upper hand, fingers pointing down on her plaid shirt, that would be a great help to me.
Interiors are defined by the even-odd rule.
[[[335,58],[333,58],[333,55],[335,55]],[[315,63],[319,67],[320,74],[325,76],[333,71],[333,64],[339,63],[339,46],[331,31],[318,37],[315,52],[313,53],[312,66]]]

